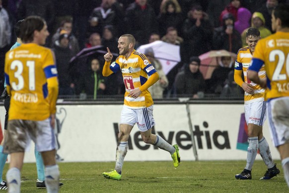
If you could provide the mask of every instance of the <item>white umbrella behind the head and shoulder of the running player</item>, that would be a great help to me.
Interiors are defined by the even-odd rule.
[[[165,75],[181,61],[180,46],[163,41],[154,41],[140,46],[137,51],[145,53],[147,48],[152,48],[154,57],[159,60]]]

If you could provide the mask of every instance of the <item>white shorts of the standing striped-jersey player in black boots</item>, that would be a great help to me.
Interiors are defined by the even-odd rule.
[[[245,104],[246,123],[262,126],[266,120],[266,103],[267,101],[256,101]]]

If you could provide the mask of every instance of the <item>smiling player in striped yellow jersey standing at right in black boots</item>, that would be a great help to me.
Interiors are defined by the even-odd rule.
[[[246,123],[248,124],[249,141],[246,167],[240,174],[235,175],[235,178],[240,180],[252,179],[251,170],[256,159],[258,149],[264,163],[268,168],[261,180],[269,180],[280,173],[279,169],[276,167],[276,164],[273,162],[269,144],[262,132],[262,126],[266,119],[265,110],[267,101],[264,100],[265,89],[261,88],[260,85],[251,82],[247,77],[252,54],[255,50],[257,42],[260,39],[260,31],[253,27],[249,28],[246,32],[246,42],[248,46],[239,49],[235,62],[234,80],[245,91],[245,119]],[[244,74],[245,82],[242,80],[242,73]],[[259,76],[262,78],[266,76],[264,66],[261,68]]]

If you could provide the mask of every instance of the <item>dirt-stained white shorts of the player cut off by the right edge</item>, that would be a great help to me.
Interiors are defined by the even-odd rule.
[[[268,120],[275,147],[289,143],[289,97],[268,100]]]

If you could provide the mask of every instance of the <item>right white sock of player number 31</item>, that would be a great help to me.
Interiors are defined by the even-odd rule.
[[[58,165],[45,166],[45,185],[48,193],[58,193],[59,178]]]

